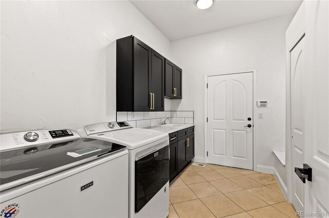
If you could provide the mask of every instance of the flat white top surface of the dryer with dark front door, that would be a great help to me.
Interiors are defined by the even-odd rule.
[[[90,135],[88,138],[101,139],[126,146],[132,150],[168,137],[167,133],[144,128],[127,128],[117,131]]]

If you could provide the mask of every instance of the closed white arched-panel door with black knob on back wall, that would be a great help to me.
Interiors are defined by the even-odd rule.
[[[208,77],[208,163],[253,169],[252,83],[252,72]]]

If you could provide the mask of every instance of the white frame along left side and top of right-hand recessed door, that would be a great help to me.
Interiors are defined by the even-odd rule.
[[[305,36],[305,2],[298,9],[286,31],[286,176],[287,202],[293,203],[293,177],[295,172],[291,163],[291,81],[290,51]]]

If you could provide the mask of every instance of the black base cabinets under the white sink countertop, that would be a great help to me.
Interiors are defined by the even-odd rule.
[[[169,180],[172,181],[194,158],[194,126],[169,134]]]

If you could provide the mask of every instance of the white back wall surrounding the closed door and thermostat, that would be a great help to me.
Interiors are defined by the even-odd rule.
[[[285,31],[292,18],[278,17],[171,43],[176,64],[183,69],[183,97],[172,101],[171,109],[194,111],[197,160],[205,158],[205,74],[246,69],[258,70],[258,99],[268,101],[267,108],[259,109],[264,119],[258,120],[255,136],[258,165],[272,167],[272,150],[285,150]]]

